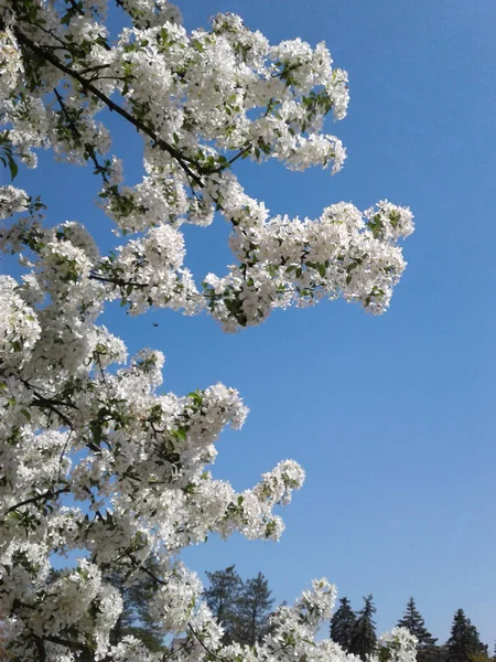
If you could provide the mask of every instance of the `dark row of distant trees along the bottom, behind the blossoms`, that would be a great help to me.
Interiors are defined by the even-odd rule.
[[[242,580],[235,566],[206,573],[208,586],[204,597],[215,619],[224,628],[225,643],[254,645],[270,631],[270,616],[274,613],[274,599],[266,577],[258,573]],[[125,609],[116,623],[111,639],[118,641],[134,634],[152,651],[163,649],[162,633],[149,613],[147,596],[151,589],[148,576],[127,587],[126,578],[116,574],[107,577],[126,592]],[[345,651],[367,660],[377,644],[374,615],[376,607],[371,595],[364,597],[364,606],[355,611],[348,598],[341,598],[331,619],[331,639]],[[410,598],[397,626],[407,628],[418,640],[418,662],[496,662],[496,651],[489,656],[487,645],[481,641],[476,627],[457,609],[453,616],[451,636],[439,644],[425,627],[416,601]],[[1,650],[1,649],[0,649]]]

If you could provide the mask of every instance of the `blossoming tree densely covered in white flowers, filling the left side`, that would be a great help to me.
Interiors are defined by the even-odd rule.
[[[335,589],[313,583],[281,607],[255,647],[223,645],[181,551],[211,532],[277,540],[272,513],[304,479],[291,460],[236,493],[214,480],[215,440],[247,409],[215,384],[185,396],[158,392],[163,355],[128,360],[97,319],[119,300],[206,313],[226,331],[259,324],[276,308],[343,297],[382,313],[405,269],[399,242],[412,215],[387,201],[358,211],[331,204],[319,218],[271,216],[236,177],[239,159],[336,172],[345,150],[323,132],[346,114],[346,73],[325,45],[271,45],[231,14],[187,33],[166,0],[0,0],[0,159],[14,179],[36,152],[89,164],[119,245],[101,254],[91,223],[45,221],[43,199],[0,188],[0,248],[21,277],[0,276],[0,622],[15,662],[345,661],[315,638]],[[119,12],[120,32],[106,26]],[[112,24],[116,20],[112,21]],[[110,24],[110,23],[109,23]],[[123,184],[112,156],[112,111],[143,145],[144,177]],[[37,192],[34,192],[37,193]],[[230,226],[233,264],[197,279],[184,267],[182,226]],[[48,218],[50,221],[50,218]],[[121,364],[121,367],[117,367]],[[77,564],[53,573],[55,557]],[[147,575],[160,653],[112,639],[120,585]],[[165,637],[164,642],[169,639]],[[397,629],[381,660],[413,659]]]

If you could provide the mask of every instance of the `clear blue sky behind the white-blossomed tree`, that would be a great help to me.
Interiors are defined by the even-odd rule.
[[[250,194],[273,213],[303,216],[339,200],[367,207],[388,197],[410,205],[417,222],[408,269],[381,318],[321,303],[225,335],[207,318],[106,316],[131,350],[165,352],[168,389],[239,388],[251,414],[241,433],[222,438],[216,476],[244,489],[283,458],[308,472],[280,543],[213,540],[185,558],[198,572],[234,563],[244,577],[261,570],[278,600],[325,575],[355,608],[373,592],[381,630],[413,595],[441,641],[463,607],[492,649],[496,2],[196,0],[182,10],[187,28],[233,11],[273,42],[325,40],[349,73],[348,117],[327,127],[347,148],[344,170],[331,178],[242,163]],[[138,173],[136,137],[118,135],[127,142],[116,141],[116,152]],[[88,169],[42,164],[20,183],[51,190],[51,221],[80,220],[108,242]],[[220,220],[187,232],[198,277],[223,273],[226,236]]]

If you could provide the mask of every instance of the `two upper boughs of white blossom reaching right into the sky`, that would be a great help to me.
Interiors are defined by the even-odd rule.
[[[322,128],[328,113],[346,115],[347,76],[325,44],[271,45],[233,14],[188,34],[166,2],[120,4],[132,25],[115,41],[105,3],[83,2],[61,20],[41,0],[30,10],[19,2],[2,19],[6,58],[19,61],[2,108],[9,146],[24,159],[44,146],[89,161],[101,177],[103,209],[119,231],[140,235],[96,260],[94,278],[133,313],[209,311],[233,331],[324,296],[384,312],[405,268],[398,241],[412,229],[408,209],[380,202],[362,216],[341,204],[316,221],[270,218],[233,170],[239,158],[341,169],[345,149]],[[109,131],[96,117],[106,107],[144,138],[147,174],[134,186],[122,184],[121,162],[108,157]],[[202,290],[183,266],[180,227],[208,225],[215,210],[233,228],[237,261],[227,276],[208,274]]]

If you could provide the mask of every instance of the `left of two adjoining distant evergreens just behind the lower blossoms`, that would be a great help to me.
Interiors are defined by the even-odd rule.
[[[211,583],[205,590],[205,600],[217,622],[224,628],[224,642],[228,643],[236,639],[238,631],[238,605],[242,591],[242,581],[235,566],[225,570],[206,573]]]

